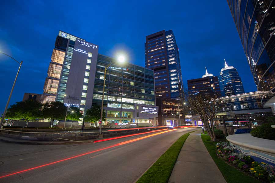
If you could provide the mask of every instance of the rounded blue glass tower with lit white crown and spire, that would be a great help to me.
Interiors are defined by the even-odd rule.
[[[218,76],[222,97],[244,93],[243,83],[237,69],[228,66],[225,59],[224,62],[225,66]]]

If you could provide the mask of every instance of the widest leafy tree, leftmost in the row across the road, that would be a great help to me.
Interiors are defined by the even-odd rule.
[[[28,127],[29,120],[35,120],[42,117],[42,104],[35,100],[25,100],[21,102],[16,102],[10,106],[7,110],[7,117],[11,119],[24,119],[27,121],[26,127]]]

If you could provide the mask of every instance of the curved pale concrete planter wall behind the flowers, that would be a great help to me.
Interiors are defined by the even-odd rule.
[[[250,134],[229,135],[230,145],[251,156],[258,163],[265,162],[275,166],[275,141],[253,137]]]

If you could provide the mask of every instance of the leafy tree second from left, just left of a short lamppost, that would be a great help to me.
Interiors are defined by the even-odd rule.
[[[42,113],[44,118],[51,120],[51,127],[53,127],[54,120],[63,120],[66,114],[66,106],[62,102],[50,102],[43,106]]]

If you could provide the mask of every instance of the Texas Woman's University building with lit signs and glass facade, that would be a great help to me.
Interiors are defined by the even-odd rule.
[[[109,125],[154,124],[157,117],[154,71],[98,54],[98,46],[59,31],[55,41],[41,102],[60,101],[85,113],[102,102]],[[155,115],[155,116],[154,116]]]

